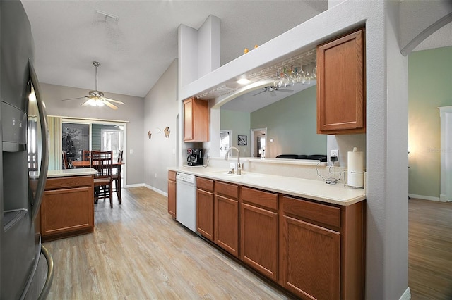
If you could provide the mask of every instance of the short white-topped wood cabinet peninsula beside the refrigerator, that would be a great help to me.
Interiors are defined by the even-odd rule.
[[[44,242],[94,231],[93,168],[49,170],[37,227]]]

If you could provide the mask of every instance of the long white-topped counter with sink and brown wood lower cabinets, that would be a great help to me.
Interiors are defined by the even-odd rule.
[[[364,298],[364,189],[216,166],[169,168],[169,184],[176,172],[196,175],[196,231],[206,240],[302,298]]]

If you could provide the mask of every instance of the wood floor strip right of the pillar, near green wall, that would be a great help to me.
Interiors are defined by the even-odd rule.
[[[408,207],[411,299],[452,299],[452,203],[410,199]]]

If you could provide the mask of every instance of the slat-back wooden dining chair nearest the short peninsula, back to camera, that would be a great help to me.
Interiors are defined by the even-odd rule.
[[[110,208],[113,208],[113,151],[91,151],[91,168],[97,170],[94,175],[95,203],[108,195]]]

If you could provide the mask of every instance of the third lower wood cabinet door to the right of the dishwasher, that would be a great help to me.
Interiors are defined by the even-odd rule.
[[[278,213],[240,204],[240,258],[278,280]]]

